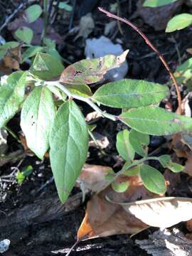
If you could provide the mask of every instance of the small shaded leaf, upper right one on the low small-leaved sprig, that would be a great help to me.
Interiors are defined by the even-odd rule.
[[[147,147],[149,145],[149,135],[148,134],[142,134],[140,132],[137,132],[134,129],[131,129],[129,134],[129,141],[132,144],[132,147],[134,148],[134,151],[136,151],[139,156],[146,156],[147,154]]]

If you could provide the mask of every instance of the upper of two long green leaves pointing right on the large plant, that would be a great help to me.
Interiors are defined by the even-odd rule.
[[[144,80],[124,79],[102,85],[92,99],[109,107],[142,107],[161,102],[169,90]]]

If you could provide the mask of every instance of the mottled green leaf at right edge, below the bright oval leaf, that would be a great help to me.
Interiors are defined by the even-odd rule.
[[[176,71],[174,72],[174,76],[178,83],[188,82],[192,78],[192,58],[186,60],[183,64],[179,65]]]

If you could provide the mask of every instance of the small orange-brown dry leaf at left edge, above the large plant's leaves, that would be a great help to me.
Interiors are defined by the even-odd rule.
[[[19,70],[21,63],[21,46],[10,48],[7,50],[4,58],[0,62],[0,71],[3,75],[9,75],[14,70]]]

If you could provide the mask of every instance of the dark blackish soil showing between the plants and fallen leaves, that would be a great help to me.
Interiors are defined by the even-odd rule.
[[[5,14],[9,16],[11,11],[14,11],[15,7],[20,4],[20,2],[21,1],[18,0],[9,0],[6,1],[5,5],[4,1],[0,1],[1,23],[4,23]],[[110,18],[107,18],[104,14],[100,13],[100,11],[97,10],[97,6],[109,9],[110,4],[114,4],[116,1],[102,0],[87,1],[87,3],[88,2],[92,3],[91,11],[95,20],[95,31],[92,32],[90,37],[102,36],[104,33],[105,23],[108,23]],[[122,16],[132,16],[136,11],[137,1],[127,0],[120,2],[122,2]],[[128,2],[132,2],[132,4],[129,5],[132,6],[131,10],[127,7]],[[73,26],[78,25],[80,16],[84,15],[90,8],[89,4],[82,7],[82,3],[83,1],[77,1]],[[186,7],[183,6],[183,8]],[[132,21],[136,23],[144,33],[146,33],[146,36],[148,36],[154,45],[157,46],[159,51],[164,54],[164,57],[171,65],[172,69],[175,69],[178,65],[176,44],[180,51],[182,61],[189,57],[186,53],[186,48],[192,47],[191,28],[186,28],[183,31],[172,33],[176,41],[176,43],[174,43],[171,41],[170,34],[166,34],[164,31],[154,31],[154,28],[146,25],[141,18],[134,18]],[[84,41],[80,39],[74,42],[74,35],[66,36],[68,33],[69,22],[70,16],[67,18],[61,18],[60,15],[58,15],[52,25],[64,40],[64,45],[62,47],[58,46],[58,49],[60,50],[60,54],[66,60],[65,66],[68,65],[67,63],[74,63],[75,61],[85,58]],[[129,73],[127,74],[127,78],[145,79],[159,83],[166,83],[169,81],[169,74],[161,64],[158,56],[151,53],[149,46],[144,43],[143,39],[140,38],[136,32],[132,31],[132,28],[128,28],[124,24],[122,24],[122,30],[124,32],[124,36],[117,32],[114,41],[117,38],[120,38],[123,42],[122,45],[124,49],[130,49],[127,57],[129,63]],[[6,28],[2,31],[2,36],[4,36],[6,41],[11,41],[12,39]],[[93,90],[95,90],[95,88],[93,88]],[[176,110],[176,97],[172,97],[171,103],[173,110]],[[82,107],[84,114],[90,112],[90,108],[87,107],[87,105],[85,106],[80,103],[80,106]],[[114,110],[110,108],[107,108],[107,112],[114,114]],[[18,134],[20,130],[19,115],[12,119],[8,126]],[[118,122],[114,123],[108,119],[100,119],[97,122],[97,128],[95,131],[107,136],[110,140],[110,146],[107,149],[104,149],[105,156],[100,154],[100,150],[90,148],[90,156],[87,159],[87,163],[114,166],[117,162],[115,137],[117,132],[123,127],[124,125]],[[160,137],[151,137],[149,152],[154,151],[159,147],[161,148],[161,144],[164,143],[164,140],[164,138]],[[10,134],[8,142],[9,152],[22,149],[22,146],[18,144],[16,139],[13,139]],[[161,149],[159,154],[161,153],[166,154],[167,152],[164,152],[164,149]],[[10,163],[1,167],[0,175],[10,174],[11,166],[17,166],[17,164],[18,161],[14,164]],[[55,216],[52,215],[51,218],[50,215],[46,215],[49,210],[48,207],[45,207],[44,211],[38,213],[43,202],[49,201],[49,198],[51,198],[51,200],[56,198],[55,185],[53,182],[50,182],[45,186],[45,188],[42,187],[46,181],[50,181],[50,178],[52,177],[48,159],[41,162],[35,156],[26,156],[26,158],[23,159],[20,168],[27,165],[33,166],[33,174],[31,174],[31,176],[29,176],[21,186],[13,185],[9,190],[6,189],[6,200],[4,203],[0,204],[0,240],[5,238],[11,240],[10,250],[4,255],[55,255],[58,250],[60,250],[60,252],[57,252],[58,255],[65,255],[62,249],[71,247],[75,242],[77,230],[80,227],[80,223],[82,222],[85,214],[86,203],[82,203],[80,206],[77,204],[75,209],[68,211],[66,214],[60,215],[55,213]],[[188,183],[190,182],[188,181]],[[185,184],[186,176],[183,174],[182,183],[175,190],[177,193],[175,192],[173,196],[191,197],[192,193],[190,186],[186,186]],[[42,188],[41,191],[38,191],[39,188]],[[74,188],[72,196],[79,192],[78,188]],[[32,222],[28,220],[26,216],[26,207],[28,206],[30,206],[28,209],[34,211],[34,213],[28,212],[28,214],[33,215],[33,217],[31,217],[31,220],[33,220]],[[16,213],[18,213],[19,210],[20,213],[23,210],[24,215],[18,215],[18,221],[15,221]],[[8,221],[8,223],[4,225],[4,221]],[[147,237],[149,232],[150,230],[146,230],[135,238],[144,239]],[[55,251],[55,253],[53,251]],[[80,245],[78,245],[78,250],[71,252],[71,255],[143,256],[147,254],[144,250],[139,249],[139,247],[134,244],[134,238],[131,240],[128,235],[116,235],[110,238],[98,238],[95,240],[81,242]]]

